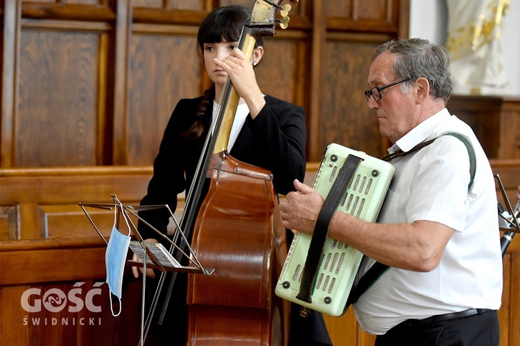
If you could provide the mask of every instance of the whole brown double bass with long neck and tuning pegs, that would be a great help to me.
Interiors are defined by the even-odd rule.
[[[276,21],[286,28],[291,6],[280,2],[254,2],[238,45],[246,57],[252,56],[258,37],[275,35]],[[275,19],[277,10],[282,19]],[[188,275],[187,343],[287,345],[290,302],[274,293],[287,255],[286,230],[272,174],[227,152],[239,104],[229,77],[218,103],[218,116],[209,129],[180,222],[185,237],[193,230],[191,246],[200,263],[214,268],[211,275]],[[202,186],[208,180],[209,190],[203,196]],[[161,276],[147,325],[166,291],[164,314],[176,276],[175,272]]]

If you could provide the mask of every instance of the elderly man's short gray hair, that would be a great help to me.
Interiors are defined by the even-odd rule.
[[[406,86],[424,77],[430,83],[430,95],[442,98],[444,104],[451,95],[449,55],[446,48],[437,46],[427,39],[394,39],[381,44],[374,53],[374,59],[384,52],[395,54],[392,73],[396,79],[410,78]]]

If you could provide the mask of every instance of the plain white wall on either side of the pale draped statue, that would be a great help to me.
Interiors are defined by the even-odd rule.
[[[491,0],[489,0],[491,1]],[[496,1],[496,0],[495,0]],[[410,37],[422,37],[435,44],[446,42],[448,10],[445,0],[410,0]],[[511,0],[503,19],[502,48],[505,70],[512,94],[520,96],[520,0]]]

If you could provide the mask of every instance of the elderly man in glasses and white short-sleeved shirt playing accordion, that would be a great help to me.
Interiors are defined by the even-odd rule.
[[[394,143],[389,153],[400,154],[376,224],[338,211],[329,224],[329,237],[366,256],[362,267],[390,266],[353,304],[358,322],[376,345],[499,345],[494,179],[471,128],[446,109],[446,49],[424,39],[387,42],[368,84],[379,132]],[[295,188],[280,204],[284,226],[312,233],[324,201],[299,181]]]

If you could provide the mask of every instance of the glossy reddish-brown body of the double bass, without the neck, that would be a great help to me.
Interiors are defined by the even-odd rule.
[[[215,272],[189,275],[189,344],[284,345],[289,304],[274,288],[286,231],[272,175],[225,152],[214,154],[215,162],[192,241]]]

